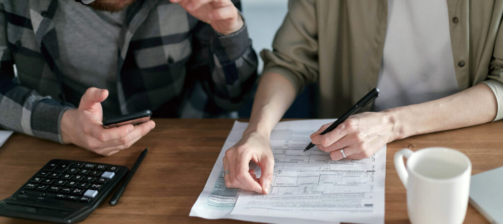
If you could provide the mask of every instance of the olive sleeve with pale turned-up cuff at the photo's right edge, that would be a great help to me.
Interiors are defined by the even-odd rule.
[[[492,56],[490,72],[482,83],[489,86],[496,97],[498,111],[494,121],[497,121],[503,119],[503,24],[499,25]]]

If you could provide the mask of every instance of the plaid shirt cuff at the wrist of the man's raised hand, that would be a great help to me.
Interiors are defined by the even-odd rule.
[[[241,13],[239,13],[241,15]],[[243,20],[243,27],[238,31],[223,35],[221,33],[215,32],[213,37],[213,52],[218,57],[219,61],[233,61],[251,46],[251,40],[248,36],[248,29],[246,26],[246,21],[241,15]]]

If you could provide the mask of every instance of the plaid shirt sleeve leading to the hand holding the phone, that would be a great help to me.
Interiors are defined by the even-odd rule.
[[[14,82],[14,60],[7,39],[4,4],[0,3],[0,127],[61,141],[60,120],[69,107]]]

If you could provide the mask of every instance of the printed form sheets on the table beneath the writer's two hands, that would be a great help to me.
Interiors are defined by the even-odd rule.
[[[269,223],[383,223],[386,146],[364,160],[332,161],[316,147],[303,152],[309,135],[332,121],[276,125],[271,132],[275,165],[268,195],[225,187],[222,159],[247,126],[234,122],[190,215]],[[255,166],[250,164],[260,176]]]

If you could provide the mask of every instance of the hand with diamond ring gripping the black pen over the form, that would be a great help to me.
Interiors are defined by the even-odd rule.
[[[332,160],[365,159],[377,152],[384,144],[396,139],[397,122],[388,112],[366,112],[351,116],[336,129],[320,135],[331,123],[311,134],[311,142],[319,150],[330,153]]]

